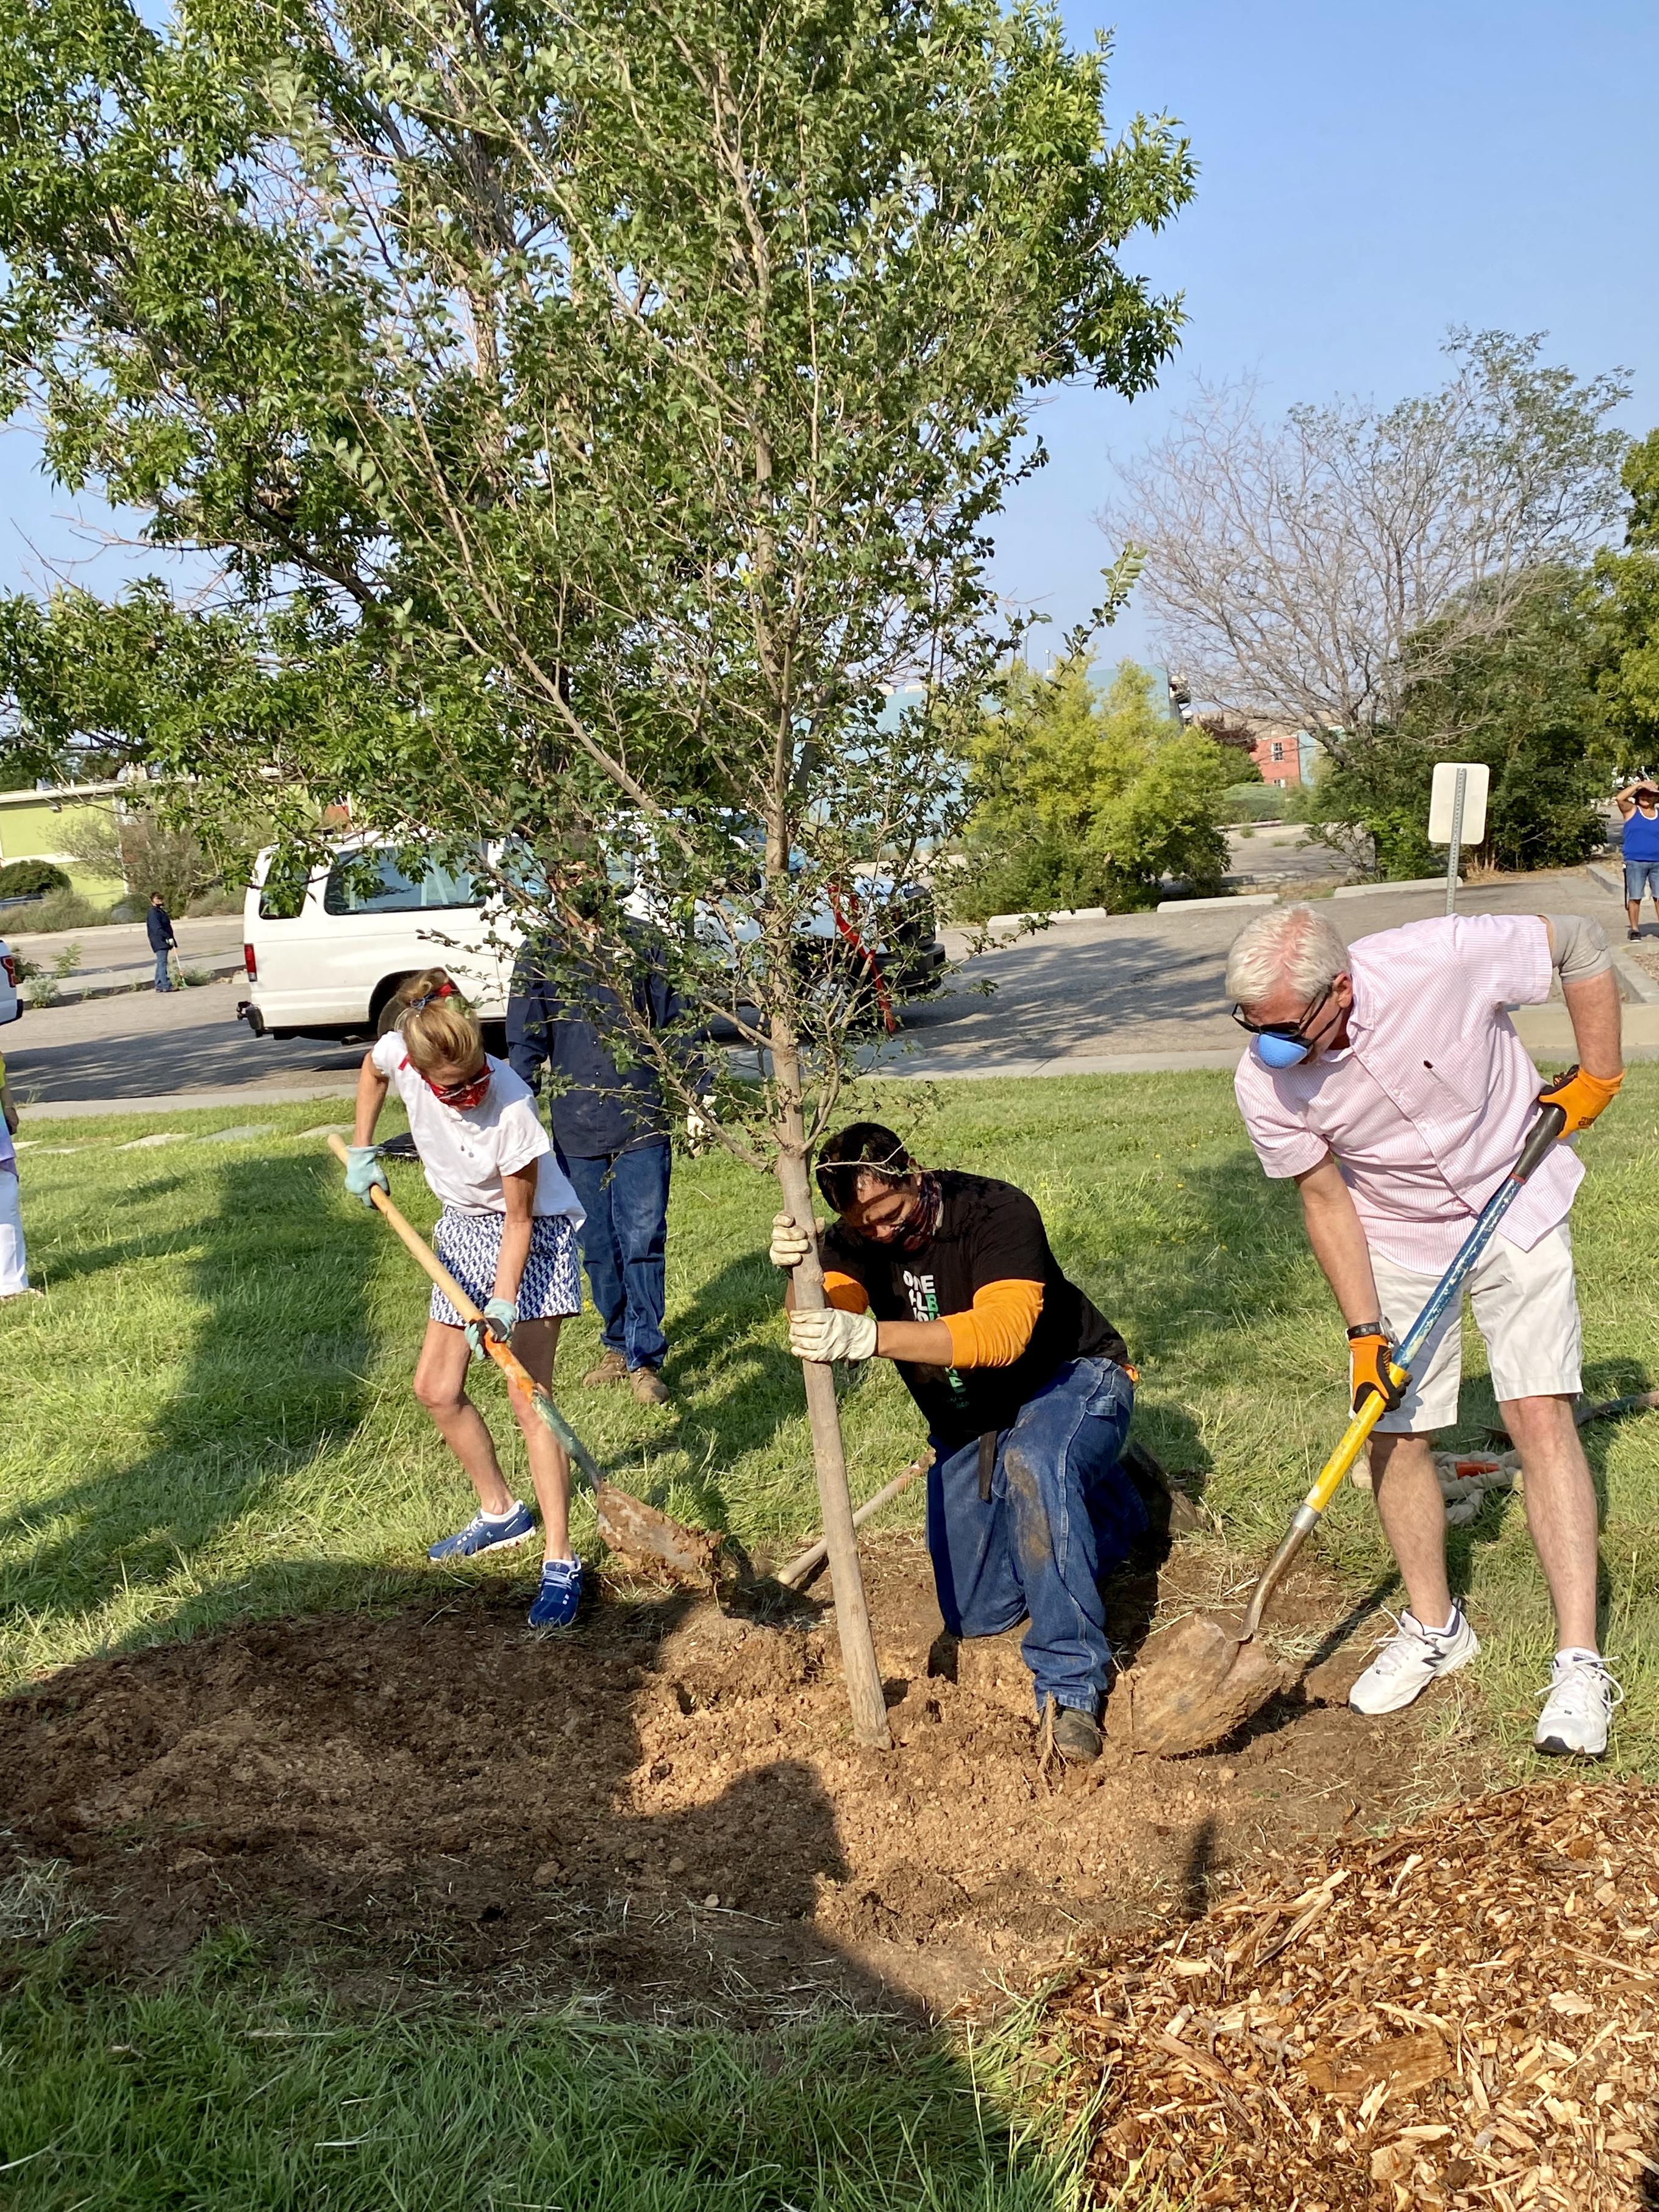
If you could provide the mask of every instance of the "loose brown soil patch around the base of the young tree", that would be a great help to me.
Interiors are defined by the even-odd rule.
[[[1212,1595],[1192,1546],[1115,1590]],[[779,2022],[993,2008],[1267,1851],[1376,1834],[1422,1796],[1418,1714],[1343,1701],[1376,1619],[1334,1628],[1219,1752],[1042,1756],[1018,1637],[953,1646],[927,1555],[869,1546],[896,1750],[858,1750],[827,1601],[770,1617],[639,1588],[535,1637],[522,1597],[440,1584],[394,1615],[259,1621],[66,1668],[0,1703],[7,1851],[69,1867],[95,1971],[166,1973],[239,1924],[347,2000]],[[774,1597],[776,1597],[776,1586]],[[1312,1564],[1281,1628],[1329,1628]],[[1110,1710],[1108,1710],[1110,1725]],[[1460,1774],[1436,1763],[1436,1787]]]

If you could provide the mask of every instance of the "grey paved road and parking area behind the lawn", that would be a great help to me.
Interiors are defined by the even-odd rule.
[[[1473,885],[1462,891],[1462,907],[1595,914],[1610,927],[1621,920],[1617,894],[1588,869]],[[1440,891],[1336,898],[1327,907],[1347,938],[1440,909]],[[967,962],[945,998],[911,1006],[902,1051],[885,1051],[883,1062],[896,1073],[942,1077],[1230,1066],[1239,1031],[1228,1020],[1223,969],[1243,920],[1243,911],[1228,907],[1121,914],[1018,938]],[[1659,949],[1659,936],[1648,945]],[[1630,1046],[1659,1051],[1659,980],[1624,960],[1624,942],[1617,953],[1630,1000]],[[991,995],[984,984],[993,984]],[[361,1048],[250,1037],[234,1020],[239,995],[232,980],[173,998],[139,993],[51,1006],[0,1033],[0,1048],[20,1099],[38,1104],[88,1102],[111,1110],[139,1099],[181,1104],[181,1093],[192,1093],[192,1104],[221,1106],[352,1091]],[[1522,1020],[1528,1042],[1559,1048],[1559,1009],[1555,1015],[1535,1009]]]

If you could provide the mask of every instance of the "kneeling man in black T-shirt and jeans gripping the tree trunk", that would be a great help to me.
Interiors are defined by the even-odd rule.
[[[889,1358],[927,1418],[927,1548],[958,1637],[1029,1619],[1022,1655],[1055,1745],[1099,1756],[1110,1686],[1099,1575],[1146,1528],[1119,1467],[1135,1389],[1124,1338],[1060,1272],[1042,1214],[1013,1183],[922,1172],[878,1121],[818,1150],[827,1312],[792,1314],[803,1360]],[[794,1267],[790,1214],[772,1259]]]

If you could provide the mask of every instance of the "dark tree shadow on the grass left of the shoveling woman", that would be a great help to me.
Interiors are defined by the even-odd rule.
[[[358,1427],[372,1398],[361,1371],[372,1352],[363,1294],[374,1248],[354,1228],[292,1159],[234,1157],[219,1166],[210,1219],[53,1267],[55,1285],[126,1267],[115,1294],[142,1301],[144,1263],[173,1259],[197,1312],[142,1455],[95,1460],[58,1493],[0,1517],[0,1542],[13,1551],[0,1568],[0,1610],[49,1624],[177,1579],[192,1555]],[[204,1248],[179,1261],[195,1241]],[[343,1573],[325,1571],[330,1593]],[[248,1582],[250,1601],[272,1577]],[[292,1571],[281,1579],[292,1595]],[[223,1615],[221,1588],[186,1599],[170,1626],[188,1630],[204,1610]]]

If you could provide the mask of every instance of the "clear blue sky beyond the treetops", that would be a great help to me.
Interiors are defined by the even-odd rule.
[[[1077,392],[1044,409],[1053,467],[998,531],[1011,599],[1055,626],[1088,606],[1113,551],[1093,520],[1113,451],[1144,442],[1194,369],[1252,372],[1272,405],[1387,400],[1438,380],[1449,323],[1548,330],[1548,356],[1579,374],[1632,372],[1630,429],[1659,422],[1652,0],[1068,13],[1079,42],[1113,20],[1113,119],[1168,108],[1201,164],[1192,208],[1126,257],[1186,292],[1190,325],[1159,392],[1135,405]],[[69,504],[40,480],[33,440],[2,436],[0,588],[86,560]],[[77,573],[113,588],[135,564],[115,553]],[[1117,650],[1150,653],[1135,608]]]

